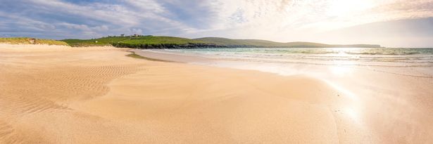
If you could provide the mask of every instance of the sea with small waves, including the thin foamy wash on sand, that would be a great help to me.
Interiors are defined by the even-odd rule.
[[[227,61],[252,62],[262,66],[250,65],[249,69],[262,71],[269,69],[263,69],[263,64],[280,68],[287,65],[278,64],[328,65],[384,71],[410,77],[433,77],[433,48],[187,48],[153,52],[224,60],[221,63],[208,63],[222,67],[248,65],[234,65]]]

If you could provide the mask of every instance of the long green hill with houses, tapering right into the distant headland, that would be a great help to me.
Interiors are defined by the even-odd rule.
[[[260,39],[225,39],[204,37],[103,37],[99,39],[64,39],[70,46],[115,46],[127,48],[202,48],[202,47],[280,47],[280,48],[328,48],[328,47],[380,47],[379,45],[330,45],[311,42],[280,43]]]

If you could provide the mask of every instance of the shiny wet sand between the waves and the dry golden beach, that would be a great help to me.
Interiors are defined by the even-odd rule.
[[[432,77],[401,74],[403,69],[399,67],[381,70],[371,67],[341,67],[338,65],[256,63],[206,58],[201,57],[201,55],[152,53],[151,51],[142,53],[151,58],[180,59],[184,63],[193,65],[269,72],[287,77],[299,74],[306,75],[325,81],[332,89],[345,93],[349,99],[356,101],[353,104],[353,109],[349,110],[347,114],[351,115],[353,119],[363,122],[365,127],[370,127],[375,131],[390,131],[389,129],[403,129],[403,127],[406,127],[413,129],[413,131],[416,129],[418,136],[433,133],[432,130],[427,128],[431,127],[428,121],[433,120],[433,112],[429,111],[433,109],[433,106],[430,105],[430,103],[433,103],[433,98],[431,98],[433,90],[430,89],[433,86]],[[377,114],[382,114],[382,116]],[[406,115],[406,117],[399,117],[401,114]],[[377,119],[377,117],[382,117],[382,120]],[[417,120],[408,120],[408,117]],[[386,123],[401,126],[394,127]],[[406,131],[392,131],[392,134],[382,134],[383,137],[396,140],[398,139],[396,137],[407,136],[409,133]],[[392,141],[389,139],[380,140],[381,138],[382,136],[379,136],[380,143]],[[415,139],[410,139],[407,142],[413,142],[413,140]]]

